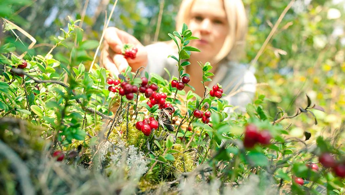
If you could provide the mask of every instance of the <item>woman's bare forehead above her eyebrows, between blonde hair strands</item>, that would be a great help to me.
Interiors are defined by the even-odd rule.
[[[195,0],[190,12],[191,14],[212,15],[217,18],[226,18],[222,0]]]

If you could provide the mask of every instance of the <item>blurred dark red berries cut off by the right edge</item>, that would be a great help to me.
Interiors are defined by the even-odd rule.
[[[336,176],[345,178],[345,162],[337,162],[330,153],[319,156],[320,163],[326,168],[332,168]]]

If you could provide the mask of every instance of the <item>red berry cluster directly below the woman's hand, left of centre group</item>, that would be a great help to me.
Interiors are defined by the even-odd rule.
[[[120,84],[120,81],[118,79],[113,80],[112,78],[108,78],[107,83],[109,85],[114,84],[114,86],[109,86],[108,90],[111,92],[116,92],[117,90],[119,91],[120,96],[126,96],[128,100],[132,100],[134,97],[133,93],[138,92],[138,87],[135,85],[131,85],[127,82],[122,82]],[[120,85],[120,86],[118,86]]]

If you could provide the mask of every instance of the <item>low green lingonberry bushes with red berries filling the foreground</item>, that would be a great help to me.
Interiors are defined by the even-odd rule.
[[[55,47],[75,38],[77,22],[71,21]],[[295,115],[288,116],[281,109],[271,117],[263,110],[265,96],[259,95],[246,112],[237,112],[222,98],[227,94],[221,85],[207,86],[216,76],[208,62],[195,67],[203,74],[204,95],[200,97],[184,73],[190,65],[186,61],[190,52],[199,52],[188,43],[198,38],[187,25],[169,36],[178,48],[178,56],[169,57],[176,60],[179,73],[170,75],[166,70],[169,80],[148,74],[144,68],[132,72],[128,67],[109,77],[106,69],[96,64],[86,72],[83,64],[61,63],[51,52],[22,59],[16,48],[2,43],[0,154],[5,158],[0,156],[0,162],[24,162],[20,166],[33,174],[23,176],[5,166],[1,173],[14,172],[18,178],[0,180],[0,192],[13,191],[9,186],[15,181],[23,186],[18,191],[29,185],[29,190],[44,193],[53,186],[54,194],[72,188],[80,193],[99,189],[114,194],[154,190],[179,194],[190,192],[190,185],[195,186],[195,194],[205,194],[204,190],[218,194],[236,194],[237,190],[254,190],[255,194],[341,193],[345,159],[337,135],[319,136],[310,142],[315,135],[306,131],[304,140],[290,137],[292,124],[282,125],[285,120],[297,123],[301,114],[313,117],[317,124],[313,110],[323,111],[322,107],[306,96],[306,106],[299,107]],[[125,45],[122,52],[135,58],[137,48]],[[185,91],[185,86],[193,90]],[[28,138],[37,134],[40,138]],[[32,158],[42,158],[42,167],[50,165],[60,183],[53,179],[42,182],[45,172],[32,165],[37,161],[28,160]],[[83,171],[94,171],[82,177],[81,166]],[[101,182],[93,182],[97,180]],[[110,188],[114,181],[118,184]],[[37,187],[30,188],[31,183]]]

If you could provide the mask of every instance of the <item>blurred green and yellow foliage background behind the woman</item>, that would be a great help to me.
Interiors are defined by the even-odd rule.
[[[27,31],[37,43],[26,54],[48,53],[56,43],[53,36],[61,35],[68,17],[82,19],[78,32],[66,47],[59,46],[53,54],[62,63],[86,66],[95,54],[102,30],[115,0],[8,0],[0,2],[0,16]],[[243,0],[248,12],[249,33],[243,63],[255,71],[257,95],[264,94],[264,110],[272,118],[278,107],[290,115],[296,107],[307,105],[305,94],[325,108],[315,111],[319,125],[308,116],[293,123],[291,136],[303,137],[304,130],[318,135],[331,135],[345,115],[345,37],[343,0]],[[166,41],[167,33],[175,30],[175,16],[180,1],[119,0],[109,26],[134,34],[144,45]],[[290,9],[287,9],[292,4]],[[10,9],[6,9],[10,7]],[[280,15],[284,10],[286,14]],[[11,13],[9,13],[11,12]],[[8,17],[10,15],[10,17]],[[279,21],[279,17],[280,20]],[[279,22],[277,28],[274,25]],[[158,24],[158,25],[157,25]],[[272,39],[257,54],[266,37]],[[13,33],[14,32],[14,33]],[[31,41],[17,30],[5,36],[22,52]],[[21,41],[18,41],[18,37]],[[74,46],[73,46],[74,45]],[[253,59],[255,59],[253,61]],[[256,60],[257,59],[257,60]],[[98,61],[96,61],[98,62]],[[295,120],[295,119],[291,119]],[[299,122],[298,122],[299,121]]]

